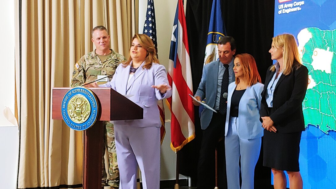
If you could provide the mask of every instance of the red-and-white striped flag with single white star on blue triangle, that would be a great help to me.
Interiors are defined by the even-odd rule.
[[[168,80],[173,95],[168,99],[171,110],[171,144],[177,152],[195,138],[193,82],[190,67],[189,45],[183,10],[178,0],[170,42]]]

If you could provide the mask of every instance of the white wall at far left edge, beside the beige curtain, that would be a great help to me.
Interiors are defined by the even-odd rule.
[[[0,63],[2,68],[0,74],[2,83],[0,91],[0,188],[14,189],[17,176],[18,127],[3,115],[5,106],[14,113],[14,1],[1,1],[0,18],[2,18],[0,52],[4,54]],[[9,115],[11,115],[10,112]]]

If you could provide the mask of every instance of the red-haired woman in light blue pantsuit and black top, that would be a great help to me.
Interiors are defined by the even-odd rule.
[[[233,68],[236,82],[229,84],[225,122],[225,158],[227,188],[254,188],[254,168],[259,158],[263,128],[260,102],[263,84],[255,60],[250,54],[239,54]],[[239,167],[239,158],[241,167]]]

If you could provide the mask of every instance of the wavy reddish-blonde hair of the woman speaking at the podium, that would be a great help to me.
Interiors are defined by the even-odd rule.
[[[145,35],[145,34],[135,34],[131,40],[131,46],[135,38],[139,40],[140,45],[147,51],[147,55],[144,60],[145,65],[143,65],[143,68],[150,69],[152,67],[152,63],[160,64],[152,39],[149,38],[148,35]],[[123,67],[128,66],[131,61],[132,61],[132,57],[130,55],[128,60],[122,63]]]

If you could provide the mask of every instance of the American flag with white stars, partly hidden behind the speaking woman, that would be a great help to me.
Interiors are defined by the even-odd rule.
[[[142,34],[148,35],[155,45],[155,49],[158,47],[158,42],[156,38],[156,23],[155,23],[155,11],[154,11],[154,2],[153,0],[148,0],[147,11],[146,11],[146,19],[143,25]],[[160,128],[160,139],[161,144],[163,139],[165,138],[166,129],[165,129],[165,109],[163,107],[163,101],[158,101],[158,108],[160,111],[160,120],[161,120],[161,128]]]

